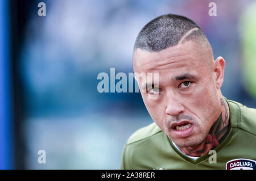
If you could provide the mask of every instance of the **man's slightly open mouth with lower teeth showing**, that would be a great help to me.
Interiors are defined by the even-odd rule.
[[[173,123],[171,128],[176,137],[184,138],[191,136],[194,126],[190,121],[181,121],[180,123]]]

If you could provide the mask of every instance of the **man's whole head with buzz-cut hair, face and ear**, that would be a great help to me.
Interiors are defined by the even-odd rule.
[[[135,77],[140,89],[148,83],[146,92],[141,91],[144,104],[180,147],[201,144],[220,116],[224,67],[222,57],[213,60],[201,28],[184,16],[168,14],[151,20],[135,41],[134,72],[159,76],[157,87]]]

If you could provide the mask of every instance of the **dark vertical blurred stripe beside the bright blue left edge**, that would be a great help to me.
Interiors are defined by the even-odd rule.
[[[13,119],[13,169],[26,169],[23,122],[26,113],[24,103],[24,89],[19,72],[20,49],[23,45],[24,29],[29,18],[31,8],[36,1],[32,0],[10,0],[10,62],[11,62],[11,95],[12,95],[12,119]],[[37,7],[35,6],[36,10]]]

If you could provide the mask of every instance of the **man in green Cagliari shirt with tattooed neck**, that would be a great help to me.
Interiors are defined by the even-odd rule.
[[[133,68],[158,73],[155,85],[135,74],[154,123],[130,136],[121,168],[256,169],[256,110],[222,96],[224,67],[192,20],[168,14],[146,24]]]

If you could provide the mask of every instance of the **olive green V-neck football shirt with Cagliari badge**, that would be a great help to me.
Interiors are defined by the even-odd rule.
[[[138,129],[126,142],[121,169],[256,169],[256,110],[228,100],[230,131],[213,154],[196,160],[180,153],[155,123]]]

